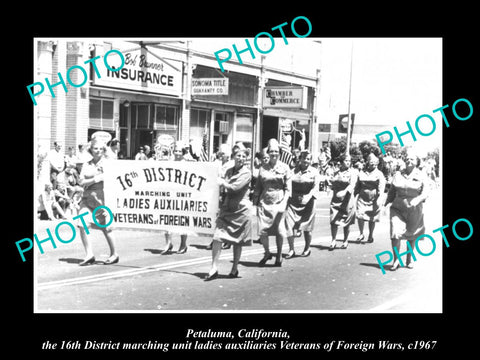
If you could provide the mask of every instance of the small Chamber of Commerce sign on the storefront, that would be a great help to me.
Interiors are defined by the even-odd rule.
[[[269,108],[307,108],[305,87],[266,87],[263,92],[263,106]]]

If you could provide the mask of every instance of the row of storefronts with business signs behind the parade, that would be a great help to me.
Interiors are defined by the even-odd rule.
[[[111,49],[124,56],[121,70],[84,65]],[[235,62],[222,73],[213,54],[190,50],[188,41],[38,40],[36,50],[35,79],[58,82],[74,65],[89,66],[90,75],[82,87],[38,97],[36,140],[45,148],[60,141],[77,149],[98,131],[119,139],[126,159],[140,146],[154,149],[160,137],[201,141],[210,159],[220,144],[260,151],[282,135],[292,148],[318,146],[318,76]]]

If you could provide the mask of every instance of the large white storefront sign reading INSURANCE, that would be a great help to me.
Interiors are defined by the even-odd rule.
[[[93,84],[180,96],[182,62],[171,59],[162,61],[162,56],[153,55],[155,54],[154,50],[146,51],[138,48],[126,52],[122,51],[125,59],[123,68],[119,71],[110,71],[106,68],[98,69],[100,76],[93,80]]]

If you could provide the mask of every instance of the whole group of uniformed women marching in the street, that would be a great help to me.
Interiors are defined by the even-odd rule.
[[[81,207],[93,210],[104,204],[103,168],[104,145],[99,140],[92,140],[90,152],[92,159],[85,164],[80,174],[80,184],[84,187]],[[233,265],[229,277],[239,276],[238,264],[244,246],[252,245],[253,238],[259,237],[264,248],[264,255],[259,266],[274,259],[275,266],[283,261],[282,247],[287,241],[289,252],[285,259],[295,254],[294,239],[305,238],[302,257],[311,254],[310,243],[315,225],[315,205],[319,197],[320,176],[312,166],[312,154],[302,151],[293,169],[281,162],[280,147],[276,139],[271,139],[262,152],[262,163],[258,169],[250,170],[247,159],[249,149],[239,144],[233,159],[225,161],[219,171],[218,185],[221,201],[216,221],[215,232],[209,248],[212,250],[212,264],[205,281],[218,277],[218,262],[225,245],[233,247]],[[175,149],[176,160],[182,160],[181,149]],[[406,165],[393,176],[386,197],[385,177],[378,170],[378,158],[373,153],[368,155],[364,169],[358,171],[351,166],[351,159],[344,155],[340,168],[334,174],[331,187],[333,191],[330,203],[330,250],[336,248],[338,228],[343,228],[341,248],[348,247],[350,226],[358,221],[359,242],[373,242],[375,224],[380,219],[381,208],[390,205],[390,238],[392,247],[399,249],[400,241],[406,239],[413,242],[425,232],[423,221],[423,202],[428,194],[425,174],[418,169],[419,158],[409,151]],[[252,192],[253,188],[253,192]],[[80,210],[81,211],[81,210]],[[97,220],[105,223],[105,214],[97,212]],[[253,219],[256,217],[257,232],[253,231]],[[103,221],[103,222],[102,222]],[[365,238],[365,222],[368,223],[368,234]],[[95,262],[89,240],[83,227],[79,227],[86,258],[80,265]],[[110,246],[111,256],[105,262],[114,264],[119,261],[115,250],[112,230],[102,229]],[[172,250],[172,234],[166,234],[167,247],[162,253]],[[275,236],[275,257],[270,252],[269,236]],[[185,253],[187,236],[181,235],[178,253]],[[410,255],[410,254],[409,254]],[[399,261],[394,252],[394,263],[391,270],[397,269]],[[407,267],[412,267],[411,258],[407,257]]]

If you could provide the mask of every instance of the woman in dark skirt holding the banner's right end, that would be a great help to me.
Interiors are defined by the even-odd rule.
[[[245,164],[249,150],[240,147],[234,157],[234,166],[228,168],[218,183],[225,196],[217,218],[212,244],[212,266],[205,281],[218,277],[218,259],[222,243],[233,245],[233,265],[229,277],[238,277],[238,262],[242,246],[252,245],[252,204],[249,200],[252,173]]]

